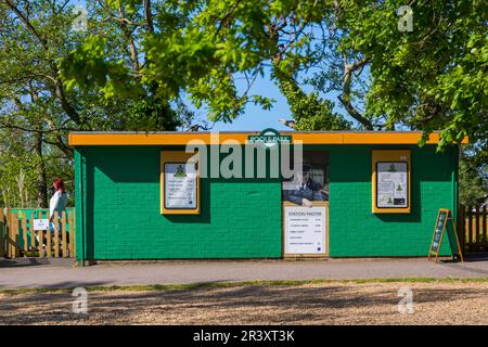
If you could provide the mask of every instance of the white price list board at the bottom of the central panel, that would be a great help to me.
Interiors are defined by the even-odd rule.
[[[326,206],[285,206],[285,254],[324,255]]]

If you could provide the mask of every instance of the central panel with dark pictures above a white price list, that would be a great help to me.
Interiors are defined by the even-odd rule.
[[[304,151],[296,164],[293,176],[282,183],[283,254],[324,257],[329,254],[329,153]]]

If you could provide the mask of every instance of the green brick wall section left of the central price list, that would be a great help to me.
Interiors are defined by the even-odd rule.
[[[76,179],[84,181],[84,196],[77,196],[77,206],[84,198],[84,208],[77,209],[77,220],[85,222],[78,230],[86,231],[77,245],[85,242],[86,259],[281,257],[278,179],[202,179],[200,215],[164,216],[159,213],[160,150],[77,151]]]

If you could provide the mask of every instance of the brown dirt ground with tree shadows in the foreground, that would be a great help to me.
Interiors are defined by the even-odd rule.
[[[410,288],[413,313],[400,313]],[[0,294],[0,324],[487,324],[488,282],[236,285],[185,291]]]

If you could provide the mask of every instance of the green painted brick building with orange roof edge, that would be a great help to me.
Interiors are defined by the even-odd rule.
[[[197,214],[162,213],[165,151],[184,152],[183,144],[194,139],[208,149],[228,139],[244,144],[249,134],[220,133],[215,143],[201,132],[72,133],[77,260],[284,257],[283,179],[269,172],[202,177]],[[328,256],[426,256],[438,209],[451,209],[455,219],[459,149],[436,153],[437,134],[423,147],[416,145],[418,132],[287,134],[294,143],[303,141],[304,153],[328,158]],[[372,210],[374,151],[410,154],[408,213]],[[447,242],[440,254],[450,254]]]

